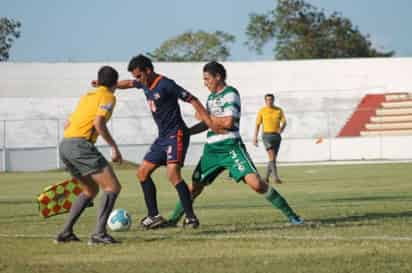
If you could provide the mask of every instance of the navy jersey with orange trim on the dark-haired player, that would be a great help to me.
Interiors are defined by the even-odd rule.
[[[183,121],[178,100],[190,102],[194,96],[173,80],[158,75],[151,86],[138,81],[134,86],[143,89],[152,116],[159,129],[159,136],[174,135],[179,129],[187,128]]]

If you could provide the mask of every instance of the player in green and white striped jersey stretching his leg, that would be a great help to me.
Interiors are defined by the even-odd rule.
[[[275,208],[280,209],[292,224],[302,224],[303,220],[289,207],[286,200],[268,183],[262,180],[251,161],[239,134],[241,103],[238,91],[226,85],[226,70],[218,62],[210,62],[203,67],[204,84],[211,94],[207,99],[207,110],[211,115],[216,130],[227,133],[207,132],[207,143],[202,156],[193,172],[190,191],[196,198],[205,186],[213,183],[225,169],[236,182],[243,181],[261,194]],[[191,134],[207,130],[207,125],[200,122],[190,128]],[[178,202],[168,226],[176,225],[183,210]],[[185,223],[183,223],[185,225]]]

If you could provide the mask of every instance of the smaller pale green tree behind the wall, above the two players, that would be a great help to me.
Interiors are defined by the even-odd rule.
[[[222,31],[188,31],[166,40],[148,55],[160,62],[224,61],[230,56],[228,44],[234,41],[233,35]]]

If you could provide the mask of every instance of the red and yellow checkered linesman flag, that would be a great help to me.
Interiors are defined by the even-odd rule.
[[[40,216],[47,218],[69,212],[81,192],[80,182],[75,178],[44,188],[37,197]]]

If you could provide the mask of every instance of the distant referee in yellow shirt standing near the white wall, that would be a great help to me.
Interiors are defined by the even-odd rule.
[[[279,178],[276,167],[276,158],[279,153],[280,142],[282,141],[282,132],[286,127],[286,119],[283,110],[274,105],[275,96],[273,94],[265,95],[266,106],[262,107],[256,118],[255,135],[253,137],[253,144],[258,144],[258,133],[260,125],[263,123],[262,141],[268,153],[269,162],[267,164],[265,180],[269,183],[270,174],[272,173],[275,182],[282,183]]]

